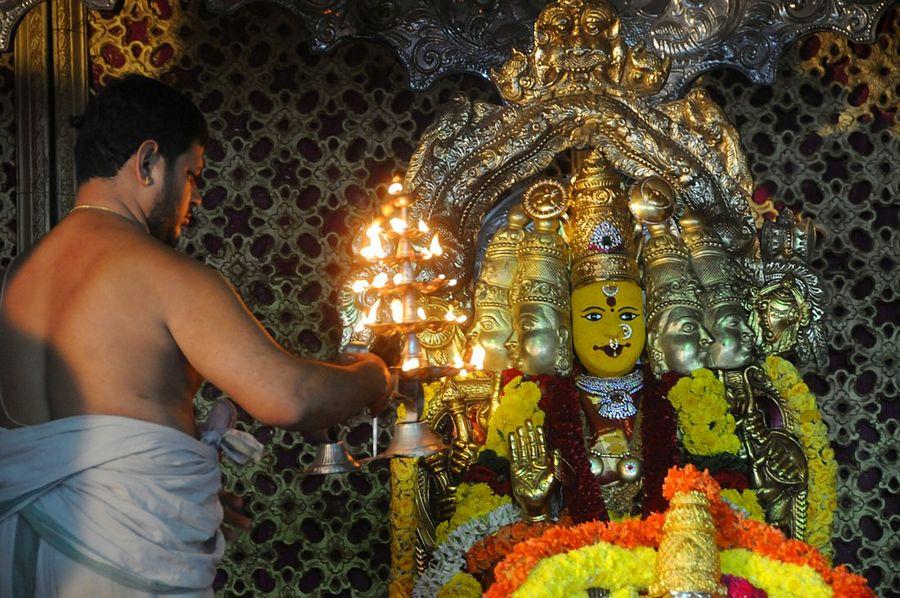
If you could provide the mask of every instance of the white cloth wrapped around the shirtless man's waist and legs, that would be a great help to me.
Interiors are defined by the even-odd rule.
[[[209,592],[220,485],[216,448],[166,426],[80,415],[0,428],[0,596],[35,591],[44,543],[126,588]]]

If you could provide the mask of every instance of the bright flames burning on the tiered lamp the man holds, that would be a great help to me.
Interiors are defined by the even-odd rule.
[[[356,330],[362,331],[367,327],[380,324],[379,310],[382,306],[382,300],[385,295],[395,293],[402,294],[402,298],[394,297],[390,301],[391,320],[394,324],[430,322],[432,327],[440,327],[441,324],[465,323],[468,319],[466,314],[457,313],[452,305],[443,314],[442,318],[428,318],[421,306],[416,307],[419,296],[423,294],[420,286],[428,283],[418,283],[416,281],[414,263],[427,262],[439,257],[443,255],[444,249],[441,247],[441,242],[436,232],[431,236],[431,241],[427,247],[416,247],[411,242],[410,237],[425,237],[431,232],[431,228],[427,222],[419,219],[416,228],[414,230],[411,229],[407,215],[409,199],[403,193],[403,185],[401,183],[392,183],[388,187],[388,193],[392,196],[393,207],[399,212],[399,216],[393,215],[393,211],[390,212],[391,217],[387,218],[389,230],[383,226],[383,219],[376,218],[366,229],[365,236],[368,242],[359,250],[359,254],[372,264],[384,263],[388,259],[393,259],[396,264],[400,265],[400,271],[396,272],[393,277],[386,272],[380,272],[371,280],[360,278],[352,283],[351,288],[354,293],[374,293],[377,295],[375,302],[357,322]],[[396,248],[389,250],[388,241],[390,236],[396,237],[397,244]],[[455,278],[447,280],[444,274],[439,274],[437,281],[440,281],[440,285],[451,288],[458,283]],[[391,286],[389,283],[393,283],[393,285]],[[405,336],[401,370],[409,372],[424,365],[424,354],[415,331],[407,331]],[[472,348],[468,364],[464,363],[462,358],[457,358],[457,362],[452,365],[459,370],[459,375],[465,376],[467,370],[481,370],[484,367],[484,355],[484,348],[475,345]]]

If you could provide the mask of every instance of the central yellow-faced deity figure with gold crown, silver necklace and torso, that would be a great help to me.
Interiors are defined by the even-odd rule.
[[[629,514],[640,491],[643,291],[634,223],[621,178],[598,151],[572,181],[572,333],[586,374],[576,376],[590,430],[591,471],[607,507]]]

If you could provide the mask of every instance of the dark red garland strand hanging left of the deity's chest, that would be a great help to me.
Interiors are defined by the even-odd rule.
[[[568,378],[542,375],[529,378],[541,389],[538,406],[544,411],[544,429],[551,449],[559,449],[566,469],[563,478],[566,511],[576,522],[609,519],[600,494],[600,482],[591,473],[578,389]]]

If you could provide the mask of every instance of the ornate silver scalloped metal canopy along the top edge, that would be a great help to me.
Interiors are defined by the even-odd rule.
[[[83,0],[110,10],[115,0]],[[204,0],[215,13],[231,13],[251,0]],[[348,39],[390,46],[422,90],[451,73],[486,77],[510,49],[527,49],[542,0],[267,0],[300,17],[310,45],[327,53]],[[0,0],[0,51],[8,50],[22,16],[41,0]],[[870,42],[891,0],[612,0],[625,39],[643,41],[672,60],[658,98],[681,95],[701,73],[738,69],[755,83],[771,83],[784,49],[799,36],[838,31]]]

